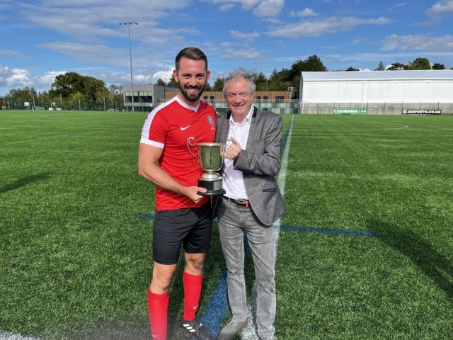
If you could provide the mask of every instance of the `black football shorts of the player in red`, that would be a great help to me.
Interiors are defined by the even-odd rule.
[[[186,253],[205,253],[211,246],[212,208],[156,211],[153,229],[153,259],[161,264],[178,263],[181,246]]]

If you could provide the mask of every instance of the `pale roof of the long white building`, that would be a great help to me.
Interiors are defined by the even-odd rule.
[[[404,71],[328,71],[302,72],[304,81],[325,80],[405,80],[405,79],[449,79],[453,80],[452,69],[422,69]]]

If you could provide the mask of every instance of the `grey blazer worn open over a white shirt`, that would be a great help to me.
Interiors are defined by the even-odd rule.
[[[216,142],[229,137],[231,112],[217,118]],[[272,225],[285,211],[280,188],[274,176],[280,170],[282,117],[253,107],[247,145],[241,145],[241,156],[234,169],[243,172],[243,181],[251,208],[264,225]]]

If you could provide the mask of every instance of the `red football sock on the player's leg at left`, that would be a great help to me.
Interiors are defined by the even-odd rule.
[[[167,314],[170,293],[154,294],[148,289],[149,322],[153,340],[167,339]]]

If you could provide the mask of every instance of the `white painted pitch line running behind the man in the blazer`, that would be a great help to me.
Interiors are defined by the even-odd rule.
[[[292,115],[291,123],[289,124],[288,135],[285,145],[285,150],[283,150],[283,157],[282,157],[282,166],[280,167],[280,173],[278,174],[277,183],[280,188],[280,192],[282,196],[285,197],[285,183],[286,183],[286,173],[288,167],[288,157],[289,157],[289,146],[291,145],[291,135],[292,135],[292,125],[294,123],[294,115]],[[277,222],[273,225],[273,232],[274,232],[274,254],[275,259],[277,258],[277,246],[278,246],[278,239],[280,237],[280,218]],[[274,263],[275,266],[275,263]],[[256,293],[257,293],[258,283],[253,283],[252,293],[248,299],[248,324],[246,329],[242,331],[242,339],[243,340],[257,340],[258,334],[256,334],[256,327],[255,323],[256,320],[253,318],[253,315],[256,315]]]

